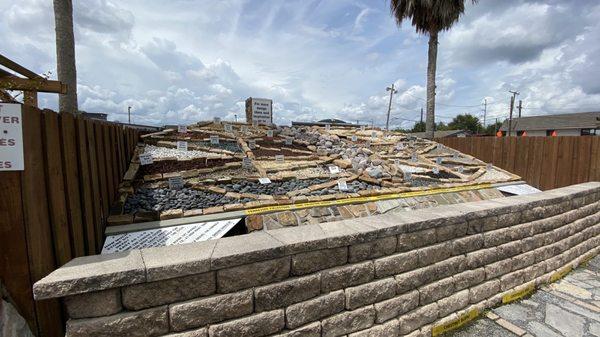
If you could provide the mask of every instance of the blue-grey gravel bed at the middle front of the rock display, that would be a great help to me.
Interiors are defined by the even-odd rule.
[[[283,195],[290,191],[301,190],[312,185],[321,184],[327,179],[304,179],[304,180],[286,180],[274,181],[270,184],[261,184],[257,181],[240,180],[230,184],[223,184],[220,187],[228,192],[252,193],[266,195]]]

